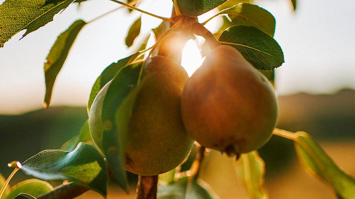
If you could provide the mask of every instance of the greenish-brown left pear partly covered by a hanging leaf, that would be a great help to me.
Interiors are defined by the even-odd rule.
[[[174,169],[190,153],[194,140],[186,132],[180,106],[188,78],[185,69],[170,58],[147,59],[141,81],[132,92],[135,98],[130,99],[134,103],[126,141],[127,171],[143,176],[162,174]],[[96,98],[101,100],[96,102],[95,98],[92,107],[102,107],[99,101],[103,101],[103,97],[99,95]],[[96,144],[102,142],[103,131],[94,125],[102,124],[97,125],[101,118],[91,116],[95,108],[91,110],[89,127],[93,139],[98,137],[94,140]],[[97,145],[102,146],[102,143]]]

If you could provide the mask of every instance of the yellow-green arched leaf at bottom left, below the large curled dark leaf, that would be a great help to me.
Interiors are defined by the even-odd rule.
[[[50,192],[52,189],[53,187],[48,182],[37,179],[25,180],[12,187],[9,194],[3,199],[14,199],[20,193],[37,197]]]

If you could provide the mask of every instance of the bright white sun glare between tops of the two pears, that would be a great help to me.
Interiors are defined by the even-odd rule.
[[[182,50],[181,66],[185,68],[187,74],[191,76],[202,64],[202,55],[195,41],[189,40]]]

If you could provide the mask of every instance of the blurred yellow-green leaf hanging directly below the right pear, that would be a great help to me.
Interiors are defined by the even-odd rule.
[[[264,187],[265,163],[256,150],[242,154],[234,164],[234,169],[246,185],[252,199],[268,198],[268,192]]]

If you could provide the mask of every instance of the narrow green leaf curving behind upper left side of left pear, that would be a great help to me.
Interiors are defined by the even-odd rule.
[[[100,76],[96,79],[90,93],[89,97],[89,102],[88,102],[88,113],[90,112],[92,103],[99,91],[102,89],[102,87],[107,84],[111,79],[115,77],[115,75],[127,65],[127,63],[130,61],[131,57],[133,55],[130,55],[126,58],[120,59],[116,63],[110,64],[107,68],[103,70],[103,72],[100,74]]]

